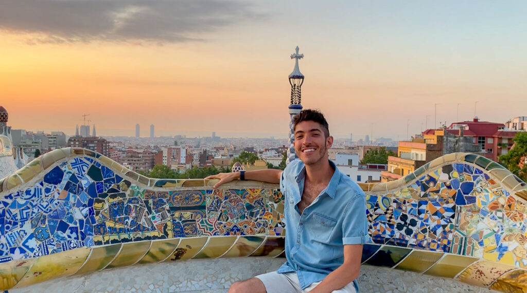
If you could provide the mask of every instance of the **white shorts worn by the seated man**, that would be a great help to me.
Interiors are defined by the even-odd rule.
[[[305,293],[313,290],[317,287],[320,282],[314,282],[313,284],[306,287],[306,289],[300,289],[300,281],[296,272],[285,272],[278,274],[276,271],[268,272],[267,274],[258,275],[255,278],[260,279],[264,283],[267,293],[284,293],[284,292],[298,292]],[[350,282],[344,288],[334,290],[332,293],[356,293],[353,282]]]

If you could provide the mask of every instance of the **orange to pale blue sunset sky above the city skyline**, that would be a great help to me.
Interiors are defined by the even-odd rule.
[[[527,116],[525,1],[0,0],[0,105],[14,129],[287,137],[304,108],[336,137],[406,138]],[[408,122],[409,120],[409,122]]]

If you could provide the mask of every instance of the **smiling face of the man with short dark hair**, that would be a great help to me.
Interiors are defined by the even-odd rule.
[[[318,122],[302,121],[295,127],[295,151],[306,165],[327,161],[327,149],[332,144],[333,137],[326,137]]]

